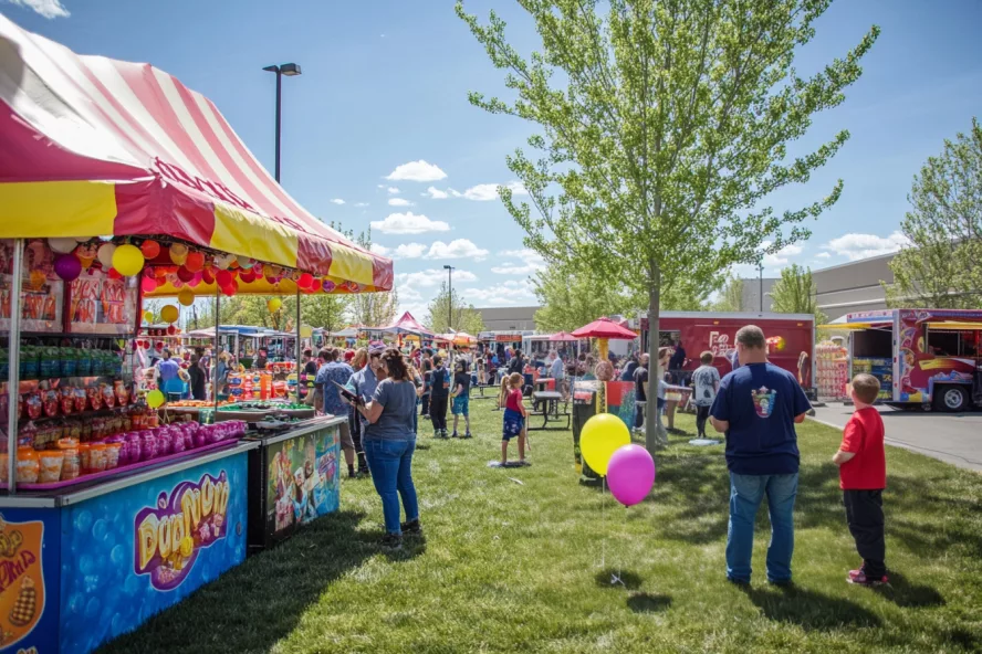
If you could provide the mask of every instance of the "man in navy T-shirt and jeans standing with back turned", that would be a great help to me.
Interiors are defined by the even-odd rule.
[[[746,325],[736,333],[736,354],[740,368],[722,379],[709,412],[712,426],[727,434],[727,578],[750,583],[753,523],[766,495],[771,515],[767,581],[787,584],[800,458],[794,425],[804,422],[812,405],[791,372],[767,362],[760,327]]]

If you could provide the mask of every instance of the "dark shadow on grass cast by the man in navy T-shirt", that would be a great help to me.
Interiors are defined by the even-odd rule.
[[[824,631],[843,626],[879,626],[880,620],[856,602],[833,598],[792,586],[787,588],[744,587],[746,593],[769,620],[796,624],[806,631]]]

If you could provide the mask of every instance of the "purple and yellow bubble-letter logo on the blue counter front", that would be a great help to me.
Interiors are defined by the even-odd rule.
[[[134,572],[149,574],[157,590],[173,590],[185,580],[201,548],[224,538],[229,481],[205,475],[160,493],[157,505],[136,514]]]

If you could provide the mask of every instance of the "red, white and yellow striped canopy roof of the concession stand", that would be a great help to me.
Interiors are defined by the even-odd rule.
[[[207,97],[149,64],[81,56],[0,15],[0,238],[108,235],[307,272],[317,292],[393,287],[391,261],[311,215]],[[295,286],[239,285],[281,291]]]

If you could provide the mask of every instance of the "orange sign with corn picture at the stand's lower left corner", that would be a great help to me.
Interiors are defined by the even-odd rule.
[[[43,540],[42,521],[0,517],[0,646],[21,641],[44,613]]]

